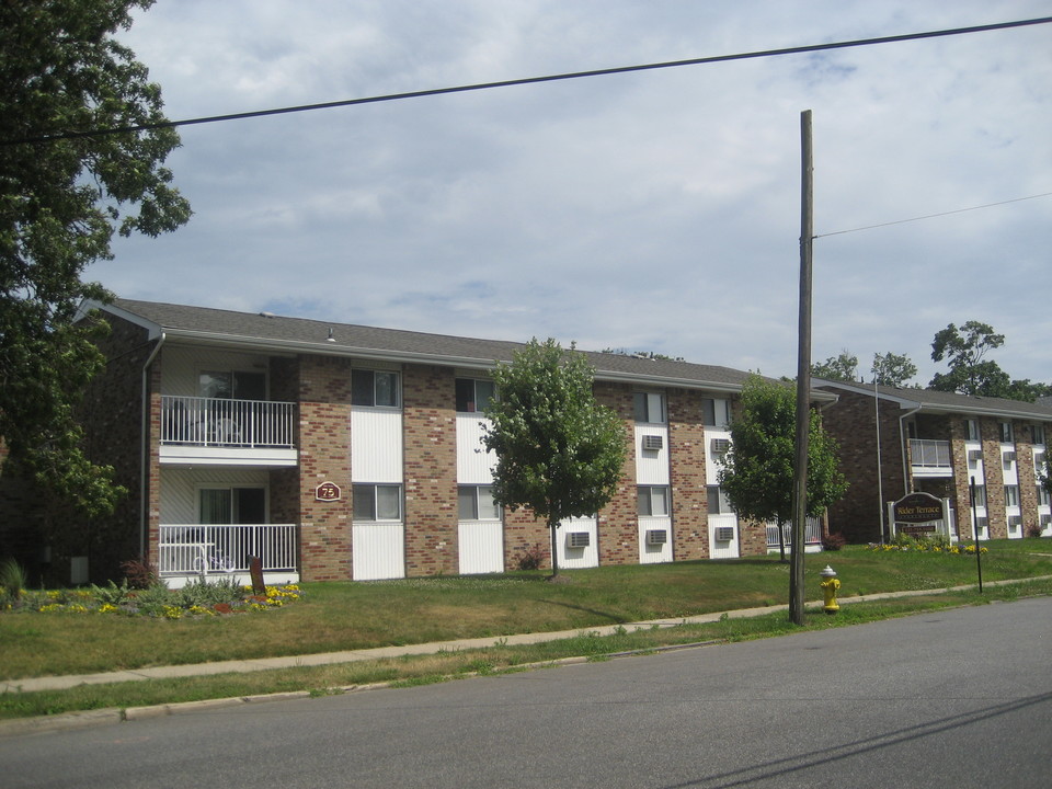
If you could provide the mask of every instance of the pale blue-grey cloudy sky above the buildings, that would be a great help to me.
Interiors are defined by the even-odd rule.
[[[161,0],[172,119],[992,24],[1047,0]],[[195,216],[118,296],[793,375],[815,233],[1052,193],[1052,25],[184,127]],[[1052,197],[814,242],[815,361],[982,320],[1052,381]]]

